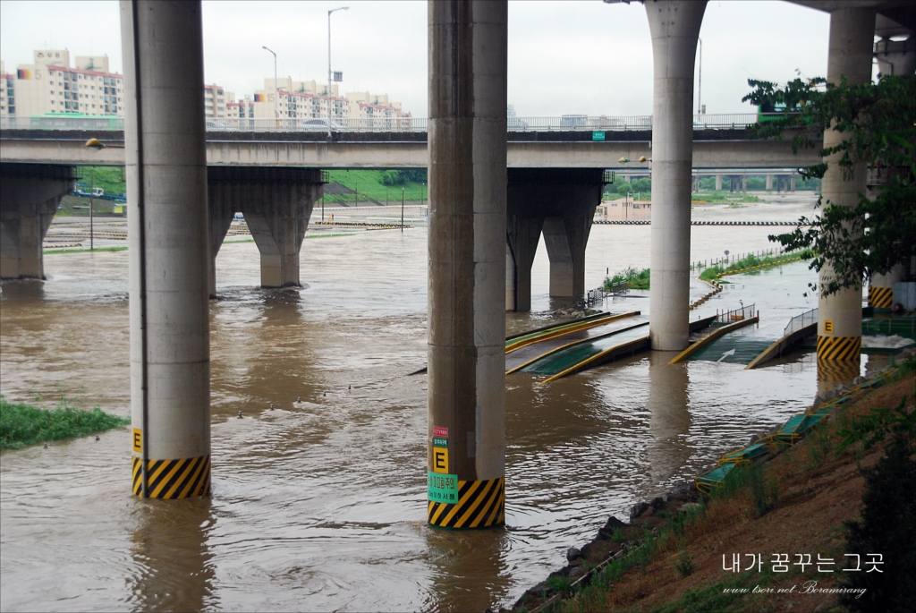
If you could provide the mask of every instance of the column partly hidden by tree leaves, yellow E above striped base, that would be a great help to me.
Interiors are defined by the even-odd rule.
[[[830,47],[827,55],[827,81],[839,84],[841,78],[850,85],[871,81],[872,41],[875,35],[873,8],[842,8],[830,14]],[[823,133],[823,147],[833,147],[846,135],[833,129]],[[859,194],[866,192],[866,166],[857,164],[852,177],[845,179],[837,165],[842,154],[824,158],[825,206],[858,204]],[[821,268],[819,285],[833,278],[830,263]],[[817,358],[819,362],[855,362],[862,346],[862,288],[839,290],[830,296],[821,293],[818,300]],[[850,370],[850,372],[852,372]]]

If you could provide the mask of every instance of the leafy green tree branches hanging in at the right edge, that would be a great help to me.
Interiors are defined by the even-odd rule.
[[[834,147],[821,148],[822,157],[838,154],[845,179],[859,163],[884,170],[887,185],[869,201],[859,194],[855,207],[818,200],[820,216],[802,217],[795,229],[769,239],[788,249],[813,248],[812,268],[829,263],[824,295],[856,288],[867,275],[884,274],[916,256],[916,76],[887,76],[877,83],[838,85],[821,78],[776,83],[749,80],[753,89],[744,101],[761,107],[791,109],[780,118],[752,127],[755,137],[791,137],[792,151],[815,148],[824,131],[845,133]],[[802,169],[805,179],[823,178],[826,164]]]

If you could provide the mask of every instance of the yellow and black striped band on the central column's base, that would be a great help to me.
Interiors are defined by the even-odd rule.
[[[506,477],[485,481],[459,481],[458,504],[430,501],[430,524],[467,530],[506,523]]]

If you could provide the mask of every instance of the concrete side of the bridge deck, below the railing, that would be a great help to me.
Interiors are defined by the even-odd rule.
[[[650,130],[507,133],[508,168],[594,168],[639,174],[652,158]],[[101,150],[84,145],[98,137]],[[123,132],[8,129],[0,131],[0,161],[60,165],[124,164]],[[792,153],[788,141],[752,140],[746,129],[703,129],[693,133],[693,169],[786,170],[820,162],[817,149]],[[320,169],[422,168],[429,160],[425,132],[337,133],[328,140],[314,132],[208,132],[208,166],[290,166]],[[646,162],[638,159],[645,157]],[[621,162],[620,159],[632,161]]]

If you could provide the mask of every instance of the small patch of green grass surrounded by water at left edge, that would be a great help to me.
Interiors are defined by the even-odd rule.
[[[35,443],[60,441],[119,428],[130,419],[92,410],[75,409],[62,395],[54,409],[7,402],[0,396],[0,449],[18,449]]]

